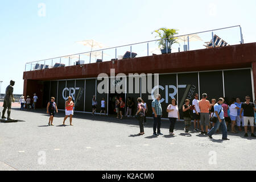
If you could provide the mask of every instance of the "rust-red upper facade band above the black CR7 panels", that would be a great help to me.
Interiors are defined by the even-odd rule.
[[[23,73],[24,95],[34,93],[35,90],[33,89],[40,90],[42,88],[40,81],[97,77],[100,73],[110,75],[110,69],[112,68],[115,69],[115,73],[128,74],[176,73],[250,68],[252,66],[255,87],[256,64],[254,62],[256,62],[256,43],[249,43],[117,60],[114,61],[114,64],[112,61],[105,61],[71,67],[43,69]]]

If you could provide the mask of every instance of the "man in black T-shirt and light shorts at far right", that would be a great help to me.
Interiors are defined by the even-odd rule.
[[[251,137],[255,137],[254,135],[254,111],[256,111],[253,102],[250,102],[250,96],[245,97],[245,102],[241,105],[240,110],[240,118],[242,118],[242,111],[243,111],[243,122],[245,122],[245,137],[248,137],[247,134],[247,127],[248,123],[251,126]]]

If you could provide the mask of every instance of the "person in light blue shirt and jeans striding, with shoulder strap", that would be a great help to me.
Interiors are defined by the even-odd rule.
[[[229,140],[228,131],[226,130],[224,110],[222,107],[223,103],[224,103],[224,99],[219,98],[217,104],[214,105],[214,117],[216,117],[216,123],[207,134],[210,139],[212,139],[212,135],[217,131],[218,127],[221,126],[222,140]]]

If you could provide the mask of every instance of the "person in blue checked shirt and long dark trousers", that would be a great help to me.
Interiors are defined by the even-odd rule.
[[[154,125],[153,125],[153,135],[163,135],[160,131],[161,127],[161,118],[162,118],[162,106],[160,104],[160,94],[156,94],[156,98],[154,101],[152,101],[152,111],[153,111],[153,118],[154,118]],[[156,134],[156,127],[158,129],[158,133]]]

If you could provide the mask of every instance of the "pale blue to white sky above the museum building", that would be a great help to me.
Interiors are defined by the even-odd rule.
[[[40,3],[46,16],[39,16]],[[179,34],[240,24],[245,43],[256,42],[256,1],[0,1],[1,93],[11,79],[23,92],[25,63],[89,51],[94,39],[109,47],[154,39],[160,27]],[[239,34],[232,33],[238,40]],[[228,38],[226,38],[228,39]]]

